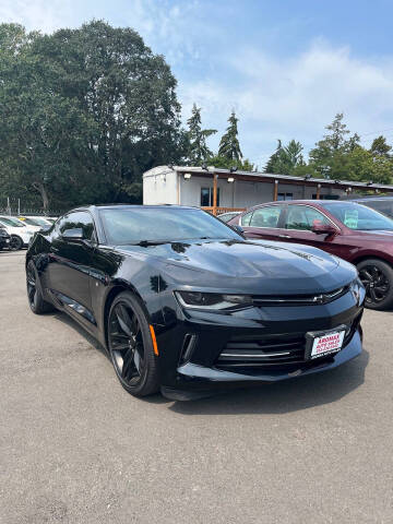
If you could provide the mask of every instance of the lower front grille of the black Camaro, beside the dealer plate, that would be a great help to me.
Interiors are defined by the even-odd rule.
[[[305,361],[306,337],[278,335],[269,337],[233,337],[216,361],[218,367],[260,367]]]

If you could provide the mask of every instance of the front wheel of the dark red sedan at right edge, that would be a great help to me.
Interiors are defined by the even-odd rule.
[[[357,264],[359,277],[366,287],[366,308],[383,310],[393,307],[393,267],[379,259],[362,260]]]

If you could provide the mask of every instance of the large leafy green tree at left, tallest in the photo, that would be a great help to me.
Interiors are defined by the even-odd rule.
[[[138,201],[144,170],[181,162],[176,80],[133,29],[0,27],[0,153],[44,207]]]

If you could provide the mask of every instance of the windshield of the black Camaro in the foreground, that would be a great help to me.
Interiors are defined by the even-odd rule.
[[[176,242],[219,238],[240,240],[228,226],[201,210],[174,207],[135,207],[100,210],[105,233],[116,246],[141,241]]]

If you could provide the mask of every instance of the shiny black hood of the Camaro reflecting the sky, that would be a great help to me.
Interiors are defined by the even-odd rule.
[[[341,259],[312,247],[282,242],[200,240],[122,246],[121,251],[146,255],[175,282],[225,293],[320,293],[356,277],[355,267]]]

